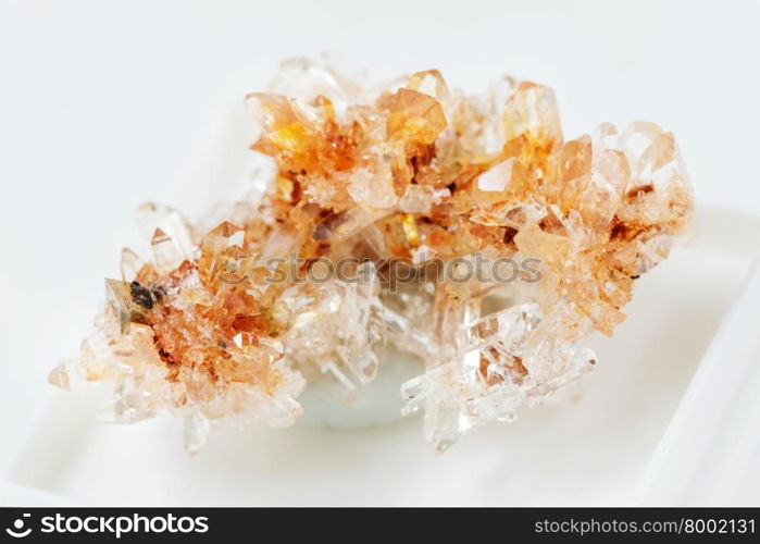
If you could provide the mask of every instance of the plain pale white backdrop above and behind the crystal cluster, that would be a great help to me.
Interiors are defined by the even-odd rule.
[[[0,461],[90,330],[137,206],[219,182],[191,170],[210,141],[249,143],[219,129],[229,104],[246,115],[281,60],[321,52],[374,81],[438,67],[469,91],[504,73],[547,84],[568,136],[656,121],[699,200],[760,212],[758,1],[3,0]]]

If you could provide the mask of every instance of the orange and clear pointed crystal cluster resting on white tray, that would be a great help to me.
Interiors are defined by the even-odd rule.
[[[602,124],[565,141],[552,90],[528,82],[472,97],[432,70],[363,88],[296,60],[247,104],[275,164],[265,191],[208,232],[144,206],[151,255],[124,250],[95,333],[51,374],[114,382],[110,421],[185,417],[191,450],[221,421],[292,424],[317,374],[361,395],[394,351],[424,362],[401,394],[436,449],[511,420],[591,369],[576,341],[612,334],[693,208],[671,133]],[[540,280],[396,285],[387,267],[478,254],[532,259]],[[303,280],[346,258],[351,277]]]

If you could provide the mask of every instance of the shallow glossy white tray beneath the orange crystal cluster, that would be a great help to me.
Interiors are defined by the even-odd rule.
[[[353,431],[94,422],[104,391],[51,392],[5,504],[760,504],[760,220],[698,207],[692,239],[638,282],[577,400],[476,429],[444,456],[419,420]]]

